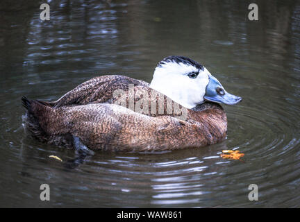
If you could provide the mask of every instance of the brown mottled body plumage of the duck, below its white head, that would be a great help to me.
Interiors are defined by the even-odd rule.
[[[124,90],[124,94],[115,97],[116,89]],[[206,102],[190,110],[161,96],[141,80],[100,76],[79,85],[58,101],[29,101],[24,97],[25,126],[41,142],[72,148],[74,137],[78,137],[88,148],[101,151],[200,147],[221,142],[226,137],[227,119],[221,105]],[[161,98],[163,113],[159,110]],[[133,105],[138,104],[138,112],[128,109],[132,99]],[[140,103],[141,99],[144,103]],[[117,105],[120,101],[126,107]],[[154,108],[153,103],[156,103]],[[172,112],[167,112],[168,104]],[[174,112],[175,107],[181,112]],[[141,108],[146,113],[141,114]]]

